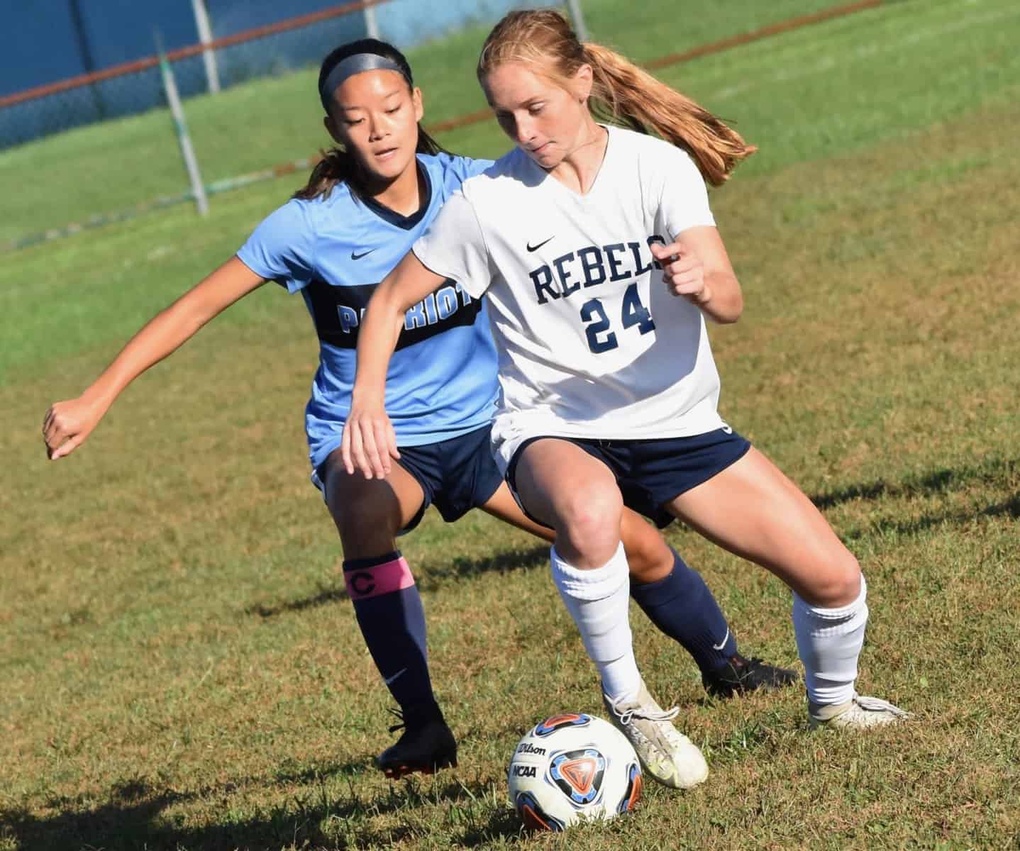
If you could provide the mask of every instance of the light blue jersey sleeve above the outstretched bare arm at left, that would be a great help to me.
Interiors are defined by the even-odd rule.
[[[256,274],[296,293],[308,286],[315,267],[311,211],[292,199],[269,213],[238,251],[238,259]]]

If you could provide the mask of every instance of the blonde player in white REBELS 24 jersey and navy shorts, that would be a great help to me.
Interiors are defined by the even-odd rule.
[[[735,321],[743,297],[705,184],[754,149],[624,57],[578,43],[556,11],[508,14],[477,70],[516,147],[464,181],[376,288],[343,436],[348,469],[391,469],[394,329],[457,282],[491,311],[497,462],[527,515],[555,531],[553,578],[611,716],[653,777],[682,743],[623,652],[627,507],[679,518],[790,588],[812,724],[901,719],[855,689],[868,617],[857,559],[718,412],[706,320]]]

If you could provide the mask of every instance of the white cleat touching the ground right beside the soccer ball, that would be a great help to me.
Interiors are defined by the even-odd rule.
[[[672,720],[677,707],[664,711],[648,693],[645,684],[633,700],[613,704],[603,693],[609,719],[627,737],[650,778],[672,789],[690,789],[708,777],[708,763],[698,747],[677,732]]]

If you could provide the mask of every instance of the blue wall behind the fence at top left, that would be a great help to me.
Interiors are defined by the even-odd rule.
[[[206,0],[213,36],[274,23],[341,5],[343,0]],[[375,6],[379,36],[400,48],[466,23],[492,22],[541,0],[392,0]],[[14,0],[0,7],[0,96],[142,59],[198,42],[191,0]],[[366,35],[364,12],[216,51],[222,86],[317,64],[334,47]],[[174,62],[184,97],[206,91],[201,56]],[[0,148],[143,112],[165,102],[159,70],[150,68],[0,109]]]

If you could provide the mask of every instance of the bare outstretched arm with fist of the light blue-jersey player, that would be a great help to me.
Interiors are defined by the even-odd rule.
[[[81,396],[50,405],[43,418],[47,456],[56,460],[73,452],[99,424],[120,391],[191,339],[213,316],[264,283],[241,260],[232,257],[156,314]]]

